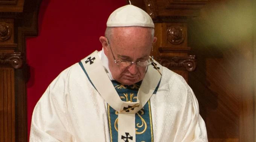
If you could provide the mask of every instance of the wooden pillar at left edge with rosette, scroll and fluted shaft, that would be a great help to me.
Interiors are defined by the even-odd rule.
[[[15,53],[14,20],[0,19],[0,141],[15,142],[15,75],[22,64]]]

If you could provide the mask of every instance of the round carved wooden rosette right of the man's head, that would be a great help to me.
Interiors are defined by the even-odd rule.
[[[180,44],[184,41],[185,33],[181,26],[170,26],[167,29],[167,39],[172,44]]]

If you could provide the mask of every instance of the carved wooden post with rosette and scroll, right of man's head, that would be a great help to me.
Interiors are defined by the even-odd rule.
[[[174,18],[174,17],[172,17]],[[163,66],[180,74],[187,81],[188,72],[194,71],[197,63],[195,56],[188,56],[187,25],[183,18],[169,18],[168,23],[155,23],[153,55]],[[175,22],[174,22],[175,21]]]

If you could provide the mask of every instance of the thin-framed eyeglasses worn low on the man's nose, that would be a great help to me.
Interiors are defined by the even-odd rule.
[[[110,44],[108,43],[108,46],[110,47]],[[138,62],[130,62],[130,61],[116,61],[116,58],[114,57],[113,51],[110,47],[112,56],[114,58],[114,61],[116,63],[116,65],[118,66],[123,66],[123,67],[127,67],[130,66],[131,64],[136,64],[137,66],[149,66],[153,63],[153,58],[149,56],[149,60],[145,60],[145,61],[138,61]]]

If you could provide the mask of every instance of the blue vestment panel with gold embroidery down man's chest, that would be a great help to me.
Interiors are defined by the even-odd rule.
[[[120,99],[122,101],[137,101],[137,93],[139,91],[142,82],[138,82],[134,85],[122,85],[115,80],[111,81],[116,89]],[[159,86],[159,84],[158,84]],[[157,88],[154,93],[157,92]],[[108,124],[110,130],[110,142],[118,141],[118,112],[114,110],[110,105],[108,105]],[[153,127],[152,127],[152,117],[151,117],[151,106],[150,100],[145,104],[145,106],[139,110],[135,115],[136,124],[136,142],[153,142]]]

